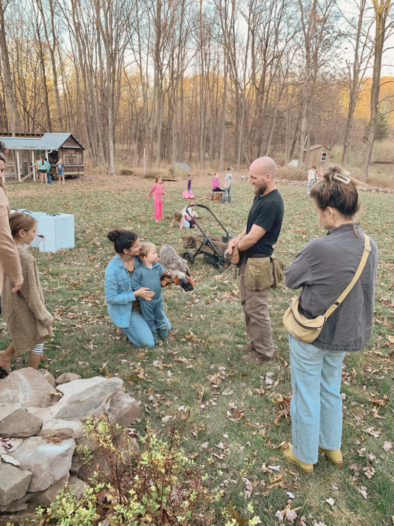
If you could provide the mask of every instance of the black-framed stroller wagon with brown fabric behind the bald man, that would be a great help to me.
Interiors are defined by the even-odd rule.
[[[225,236],[215,236],[211,234],[206,234],[204,230],[199,225],[198,221],[196,221],[195,218],[193,218],[193,221],[195,223],[195,226],[200,230],[201,234],[192,234],[190,236],[182,236],[182,242],[184,248],[190,248],[195,249],[195,252],[190,252],[189,250],[186,250],[182,254],[182,258],[188,261],[189,263],[194,263],[194,258],[197,254],[203,254],[204,255],[204,261],[209,263],[210,265],[213,265],[215,270],[218,270],[219,272],[223,271],[223,265],[228,262],[224,258],[224,253],[227,250],[227,247],[229,246],[229,241],[232,239],[232,235],[230,232],[226,229],[225,226],[222,225],[222,223],[217,219],[213,211],[208,208],[208,206],[205,205],[193,205],[195,207],[205,208],[209,211],[210,214],[214,217],[214,219],[217,221],[217,223],[223,228],[225,231]],[[186,212],[191,216],[191,210],[189,211],[190,206],[186,207]],[[194,250],[193,250],[194,251]]]

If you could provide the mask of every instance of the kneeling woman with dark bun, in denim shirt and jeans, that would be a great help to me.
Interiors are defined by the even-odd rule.
[[[154,340],[148,323],[141,315],[140,299],[150,301],[154,292],[148,287],[138,290],[131,288],[131,276],[140,262],[140,240],[130,230],[111,230],[108,239],[117,252],[111,259],[105,272],[105,296],[109,316],[113,323],[121,328],[122,333],[138,347],[153,347]],[[165,315],[164,315],[165,317]],[[165,317],[168,329],[171,324]]]

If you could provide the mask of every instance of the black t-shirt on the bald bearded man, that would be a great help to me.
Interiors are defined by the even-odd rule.
[[[246,250],[246,256],[251,254],[273,254],[279,232],[282,228],[284,206],[283,199],[278,190],[272,190],[269,194],[256,196],[249,212],[246,225],[246,234],[251,231],[253,225],[265,228],[266,234],[253,246]]]

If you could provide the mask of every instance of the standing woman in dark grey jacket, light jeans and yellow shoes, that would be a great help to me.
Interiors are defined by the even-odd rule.
[[[339,166],[330,166],[310,191],[317,217],[328,230],[312,239],[285,271],[285,284],[302,287],[299,312],[312,319],[323,315],[356,274],[365,237],[354,215],[360,207],[357,186]],[[290,412],[293,444],[282,442],[284,457],[305,473],[313,471],[318,451],[341,466],[342,362],[347,352],[365,347],[374,320],[378,251],[371,251],[364,270],[339,307],[327,318],[319,336],[304,343],[289,336],[293,397]]]

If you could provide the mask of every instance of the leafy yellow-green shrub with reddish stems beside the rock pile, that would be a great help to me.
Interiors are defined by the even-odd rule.
[[[187,421],[186,416],[186,421]],[[78,501],[74,491],[62,490],[48,509],[38,508],[41,526],[99,526],[107,518],[111,526],[211,526],[221,522],[231,526],[239,517],[225,508],[224,489],[208,485],[204,464],[195,464],[193,455],[182,447],[182,427],[173,424],[164,438],[148,424],[139,439],[140,448],[127,429],[113,428],[106,417],[86,422],[89,439],[98,445],[105,461],[97,466],[91,488],[85,487]],[[217,471],[218,476],[222,473]],[[106,482],[98,482],[98,479]],[[212,482],[212,480],[210,480]],[[214,481],[215,484],[215,481]],[[213,484],[213,485],[214,485]],[[231,510],[232,510],[231,504]],[[248,510],[252,511],[252,510]],[[253,518],[247,524],[258,524]]]

